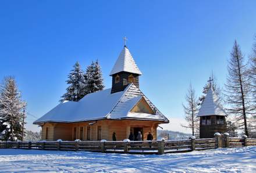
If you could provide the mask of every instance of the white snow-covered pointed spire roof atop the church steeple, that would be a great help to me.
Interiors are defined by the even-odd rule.
[[[118,60],[116,60],[116,63],[113,66],[110,75],[119,73],[121,71],[126,71],[139,75],[142,74],[140,69],[138,69],[137,64],[135,63],[133,56],[131,56],[129,49],[126,46],[123,47],[123,50],[121,51]]]

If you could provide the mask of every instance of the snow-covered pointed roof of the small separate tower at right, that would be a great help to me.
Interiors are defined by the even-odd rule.
[[[212,88],[208,90],[197,116],[227,116],[225,109]]]

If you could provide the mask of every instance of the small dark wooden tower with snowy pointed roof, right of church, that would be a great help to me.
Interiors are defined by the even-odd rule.
[[[214,89],[208,89],[197,116],[200,117],[200,138],[214,138],[216,132],[227,132],[227,113]]]

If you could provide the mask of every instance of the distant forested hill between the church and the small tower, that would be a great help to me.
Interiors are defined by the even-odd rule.
[[[185,134],[182,132],[175,132],[175,131],[168,131],[168,130],[157,130],[158,139],[159,138],[165,138],[168,140],[168,134],[169,134],[169,140],[177,140],[177,139],[189,139],[191,134]]]

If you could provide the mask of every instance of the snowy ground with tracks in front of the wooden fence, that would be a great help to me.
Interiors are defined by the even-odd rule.
[[[161,156],[0,149],[0,172],[256,172],[256,147]]]

